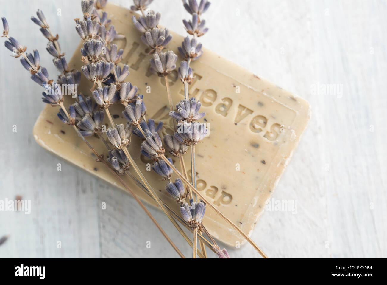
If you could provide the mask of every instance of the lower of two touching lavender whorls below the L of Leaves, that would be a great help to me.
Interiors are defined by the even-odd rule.
[[[175,138],[185,145],[193,143],[196,145],[198,142],[203,140],[208,130],[203,123],[199,122],[181,122],[177,124],[177,132]]]

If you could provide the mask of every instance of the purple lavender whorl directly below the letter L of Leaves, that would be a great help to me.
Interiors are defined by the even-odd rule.
[[[169,115],[176,121],[186,121],[187,123],[197,121],[205,116],[205,112],[199,113],[201,105],[200,101],[196,101],[194,97],[182,99],[176,104],[177,112],[171,111]]]

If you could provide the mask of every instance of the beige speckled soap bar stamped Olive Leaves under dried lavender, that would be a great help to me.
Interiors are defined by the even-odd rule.
[[[146,54],[146,46],[139,39],[139,32],[131,21],[135,13],[112,4],[106,6],[106,11],[111,15],[118,33],[126,37],[116,44],[125,50],[122,63],[130,67],[127,81],[137,85],[139,92],[144,95],[147,118],[163,121],[161,132],[170,133],[173,124],[168,116],[164,78],[149,71],[151,55]],[[177,47],[183,41],[183,36],[171,33],[173,40],[168,48],[178,54]],[[80,70],[82,66],[80,47],[68,64],[70,69]],[[204,49],[202,57],[192,62],[192,69],[195,80],[190,85],[190,96],[202,103],[206,116],[201,121],[207,123],[209,128],[209,136],[196,147],[197,189],[245,233],[250,234],[307,126],[310,106],[306,100],[210,50]],[[170,74],[170,85],[176,104],[184,97],[183,84],[176,72]],[[90,96],[91,86],[82,75],[78,89]],[[73,98],[66,96],[65,105],[73,101]],[[110,110],[116,123],[125,123],[122,105],[113,105]],[[114,176],[95,161],[94,155],[74,130],[59,121],[57,112],[57,108],[49,105],[43,109],[34,126],[36,142],[123,189]],[[108,126],[107,120],[105,124]],[[100,140],[94,137],[88,139],[99,153],[107,155]],[[139,138],[133,136],[129,151],[161,199],[177,210],[178,205],[164,189],[165,182],[160,181],[153,171],[146,170],[146,163],[151,161],[140,155]],[[185,163],[190,176],[189,154],[185,155]],[[175,165],[180,169],[176,160]],[[155,205],[130,178],[125,176],[124,179],[142,200]],[[243,238],[211,209],[207,210],[204,223],[209,232],[225,244],[235,246],[236,241],[243,242]]]

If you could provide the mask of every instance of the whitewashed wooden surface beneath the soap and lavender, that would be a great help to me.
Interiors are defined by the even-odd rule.
[[[212,2],[202,43],[313,108],[273,195],[297,201],[297,213],[266,211],[253,240],[269,257],[387,257],[387,2]],[[0,0],[10,33],[37,48],[55,74],[46,40],[29,19],[38,8],[71,55],[79,42],[73,21],[81,16],[79,1]],[[184,33],[188,14],[180,0],[156,0],[152,9],[164,26]],[[32,127],[43,108],[41,88],[3,47],[0,70],[0,200],[22,195],[32,207],[29,215],[0,212],[0,236],[10,235],[0,257],[176,257],[130,196],[38,147]],[[317,84],[338,84],[342,93],[316,94]],[[150,211],[189,256],[170,222]],[[259,257],[249,245],[228,250],[231,257]]]

